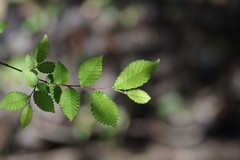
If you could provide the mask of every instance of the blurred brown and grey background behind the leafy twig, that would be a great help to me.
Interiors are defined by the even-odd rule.
[[[73,123],[34,107],[19,129],[19,112],[0,110],[0,160],[239,160],[239,0],[0,0],[0,60],[21,69],[46,33],[48,58],[63,61],[77,84],[79,64],[103,54],[96,86],[111,87],[136,59],[161,63],[144,85],[152,100],[133,103],[109,92],[119,127],[96,122],[89,95]],[[21,75],[0,67],[0,97],[30,93]]]

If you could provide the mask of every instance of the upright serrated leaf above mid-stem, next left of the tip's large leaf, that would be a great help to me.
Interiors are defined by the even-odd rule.
[[[102,74],[103,56],[92,57],[81,64],[78,72],[80,85],[89,86],[96,82]]]

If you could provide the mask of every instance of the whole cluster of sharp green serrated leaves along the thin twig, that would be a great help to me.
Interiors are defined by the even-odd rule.
[[[4,28],[4,27],[3,27]],[[2,28],[2,30],[3,30]],[[100,123],[117,126],[118,108],[101,88],[92,88],[102,74],[103,56],[91,57],[84,61],[79,68],[78,85],[67,84],[69,72],[60,61],[46,61],[49,52],[47,35],[38,43],[34,56],[26,55],[24,70],[22,72],[27,84],[33,88],[31,94],[22,92],[9,92],[0,102],[0,108],[7,110],[22,109],[20,126],[26,127],[32,119],[31,98],[35,104],[45,112],[55,112],[54,103],[60,104],[62,112],[72,121],[80,108],[80,94],[74,88],[89,89],[91,91],[91,111]],[[136,103],[144,104],[150,100],[150,96],[143,90],[137,89],[146,83],[159,64],[157,61],[136,60],[127,65],[117,77],[113,87],[109,89],[126,94]],[[45,79],[39,78],[39,73],[45,75]]]

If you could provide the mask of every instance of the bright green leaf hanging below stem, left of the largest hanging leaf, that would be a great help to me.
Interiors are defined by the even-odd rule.
[[[60,97],[60,106],[66,117],[72,121],[80,107],[80,95],[77,90],[64,89]]]

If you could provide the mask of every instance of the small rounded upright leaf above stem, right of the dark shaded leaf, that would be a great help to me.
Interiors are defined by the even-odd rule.
[[[69,72],[61,62],[56,62],[53,79],[56,84],[65,84],[69,80]]]

